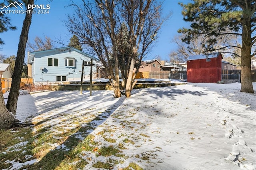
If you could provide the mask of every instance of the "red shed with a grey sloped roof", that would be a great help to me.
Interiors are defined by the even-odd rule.
[[[187,58],[187,79],[193,83],[221,81],[221,53],[193,55]]]

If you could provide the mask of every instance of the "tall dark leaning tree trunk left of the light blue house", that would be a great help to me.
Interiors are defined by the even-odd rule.
[[[28,4],[34,4],[34,0],[28,0]],[[7,109],[16,114],[19,90],[20,90],[20,79],[22,75],[22,67],[25,58],[26,43],[28,41],[28,31],[32,20],[32,10],[28,10],[26,13],[25,20],[23,21],[22,30],[20,33],[20,42],[18,44],[18,51],[15,61],[15,67],[12,75],[12,85],[10,88],[10,94],[6,104]]]

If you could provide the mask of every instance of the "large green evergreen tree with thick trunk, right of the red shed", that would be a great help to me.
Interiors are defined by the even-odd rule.
[[[190,43],[198,35],[205,34],[208,40],[204,47],[208,51],[218,51],[230,47],[241,49],[241,92],[254,93],[251,77],[251,58],[256,55],[252,50],[256,44],[256,3],[255,0],[193,0],[180,5],[183,7],[184,20],[192,22],[191,28],[183,28],[180,33],[186,34],[184,42]],[[236,36],[242,39],[242,47],[223,44],[214,45],[219,38]]]

